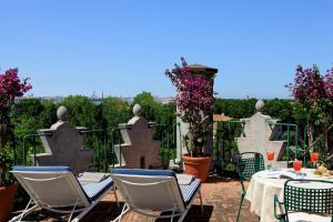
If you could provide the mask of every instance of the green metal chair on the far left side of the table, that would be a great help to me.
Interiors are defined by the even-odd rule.
[[[241,204],[240,204],[239,214],[236,219],[236,221],[239,221],[242,204],[246,194],[244,180],[250,180],[254,173],[264,170],[265,167],[264,167],[264,159],[262,154],[258,152],[240,153],[236,158],[238,158],[236,172],[239,174],[239,180],[242,185]]]

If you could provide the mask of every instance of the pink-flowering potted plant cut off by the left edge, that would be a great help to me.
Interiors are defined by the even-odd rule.
[[[10,154],[8,154],[9,144],[7,142],[9,139],[13,140],[13,125],[10,122],[11,110],[14,99],[22,97],[30,89],[31,85],[27,83],[27,79],[23,81],[19,79],[18,69],[10,69],[0,74],[0,222],[8,221],[18,188],[18,184],[8,176],[8,155]]]

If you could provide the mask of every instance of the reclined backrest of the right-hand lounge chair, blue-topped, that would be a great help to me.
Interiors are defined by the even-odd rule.
[[[174,172],[165,170],[114,169],[111,178],[135,210],[182,212],[185,204]]]

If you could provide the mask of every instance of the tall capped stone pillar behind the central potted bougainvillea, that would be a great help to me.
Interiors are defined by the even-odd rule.
[[[195,74],[201,74],[201,75],[206,77],[206,79],[212,79],[211,84],[214,85],[214,79],[212,77],[218,72],[218,69],[205,67],[205,65],[198,64],[198,63],[190,64],[189,68],[191,68]],[[174,71],[174,70],[172,70],[172,71]],[[211,97],[213,97],[213,94]],[[188,150],[182,142],[182,138],[189,132],[189,124],[184,123],[181,120],[180,115],[181,115],[181,113],[179,113],[179,110],[178,110],[176,123],[179,125],[176,127],[176,160],[175,160],[175,162],[178,162],[179,165],[182,168],[183,167],[182,162],[181,162],[182,154],[188,153]],[[211,133],[206,137],[206,143],[204,144],[204,149],[205,149],[206,153],[213,155],[213,112],[210,114],[210,122],[212,123],[211,124],[212,125]],[[170,165],[174,165],[173,161],[170,162]]]

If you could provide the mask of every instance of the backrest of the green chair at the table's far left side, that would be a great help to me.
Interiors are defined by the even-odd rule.
[[[236,170],[241,179],[251,179],[254,173],[264,169],[264,159],[261,153],[244,152],[238,155]]]

